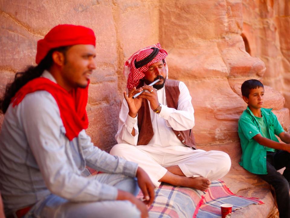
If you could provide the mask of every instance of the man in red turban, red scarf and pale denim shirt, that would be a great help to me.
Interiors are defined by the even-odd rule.
[[[85,133],[94,58],[91,29],[58,25],[38,41],[38,65],[6,87],[0,190],[8,217],[148,217],[148,175],[95,147]],[[86,165],[104,173],[85,177]],[[135,197],[138,186],[144,203]]]

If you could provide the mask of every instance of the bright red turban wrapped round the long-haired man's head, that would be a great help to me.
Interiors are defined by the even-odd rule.
[[[52,48],[78,44],[95,46],[94,31],[84,26],[58,25],[52,28],[44,39],[40,39],[37,42],[36,63],[39,64]]]

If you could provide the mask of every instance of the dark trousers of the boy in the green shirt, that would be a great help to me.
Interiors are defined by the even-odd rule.
[[[286,167],[283,174],[277,170]],[[290,154],[287,151],[267,152],[267,172],[258,175],[275,189],[280,218],[290,218]]]

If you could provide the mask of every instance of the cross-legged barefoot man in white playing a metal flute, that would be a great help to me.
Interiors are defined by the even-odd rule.
[[[211,180],[227,174],[230,157],[221,151],[196,149],[192,98],[183,82],[168,79],[166,56],[156,44],[125,62],[129,93],[124,92],[119,115],[119,144],[110,154],[138,163],[156,187],[166,182],[205,191]]]

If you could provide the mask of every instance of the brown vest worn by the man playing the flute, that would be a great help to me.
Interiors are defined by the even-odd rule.
[[[166,94],[167,107],[172,107],[177,110],[178,98],[180,94],[179,81],[167,79],[164,88]],[[145,98],[143,98],[142,105],[138,111],[139,135],[137,145],[147,145],[154,135],[151,123],[150,110],[151,109],[149,107],[148,101]],[[183,144],[187,145],[188,147],[196,149],[195,140],[191,129],[184,131],[173,130],[173,132]]]

